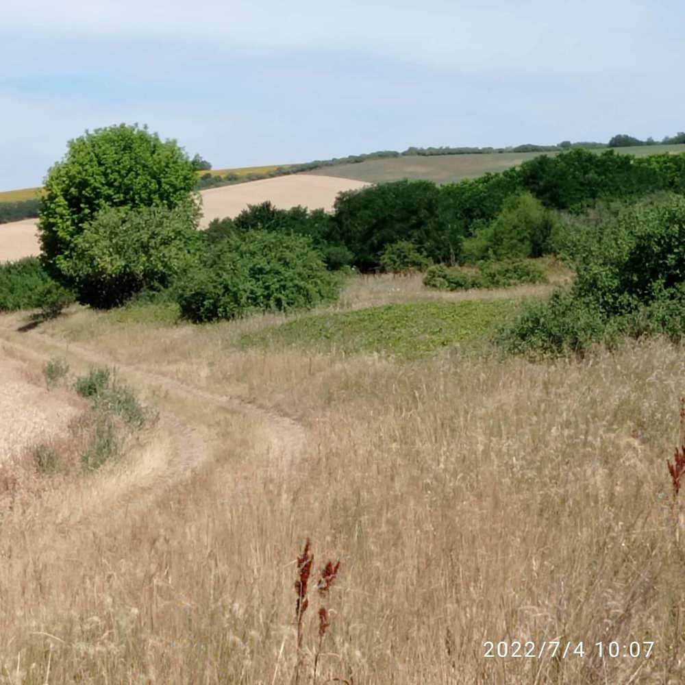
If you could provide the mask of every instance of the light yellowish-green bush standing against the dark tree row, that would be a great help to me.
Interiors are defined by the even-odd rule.
[[[530,192],[512,195],[487,226],[464,241],[464,258],[483,259],[541,257],[551,251],[558,221]]]

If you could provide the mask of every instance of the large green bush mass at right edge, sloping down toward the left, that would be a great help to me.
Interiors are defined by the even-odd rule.
[[[626,334],[685,335],[685,199],[671,195],[588,225],[569,256],[575,282],[503,330],[507,349],[583,353]]]

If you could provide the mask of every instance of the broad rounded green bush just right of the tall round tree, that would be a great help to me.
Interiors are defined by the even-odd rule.
[[[196,323],[256,311],[308,308],[334,295],[335,284],[309,238],[248,230],[208,251],[179,284],[182,315]]]

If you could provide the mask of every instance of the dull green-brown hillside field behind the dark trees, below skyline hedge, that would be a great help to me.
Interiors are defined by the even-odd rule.
[[[594,150],[597,153],[602,149]],[[664,152],[685,152],[685,145],[645,145],[616,148],[616,152],[631,155],[656,155]],[[556,154],[556,153],[548,153]],[[436,183],[452,183],[464,178],[476,178],[484,173],[504,171],[511,166],[538,157],[539,152],[506,152],[485,155],[444,155],[435,157],[398,157],[366,160],[358,164],[325,166],[309,171],[312,175],[339,176],[366,183],[382,183],[401,179],[429,179]]]

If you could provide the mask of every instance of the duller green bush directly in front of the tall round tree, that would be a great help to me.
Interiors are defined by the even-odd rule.
[[[63,273],[80,301],[100,308],[168,288],[199,258],[193,214],[184,206],[103,210],[74,238]]]

